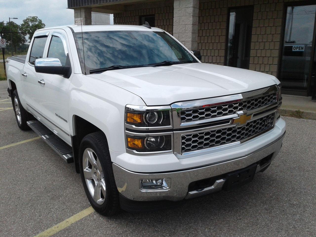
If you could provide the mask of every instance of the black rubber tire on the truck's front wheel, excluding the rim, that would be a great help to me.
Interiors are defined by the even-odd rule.
[[[104,181],[106,185],[106,195],[104,197],[103,204],[98,204],[93,199],[83,174],[83,155],[86,149],[93,150],[93,152],[97,156],[95,160],[99,159],[102,167]],[[110,157],[106,136],[103,132],[90,133],[82,139],[79,147],[79,167],[84,190],[94,210],[96,210],[103,216],[113,216],[114,214],[116,214],[119,210],[119,192],[117,190],[114,180],[112,161]],[[96,184],[94,184],[94,187],[95,185]]]

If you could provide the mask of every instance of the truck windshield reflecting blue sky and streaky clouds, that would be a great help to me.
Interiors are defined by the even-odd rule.
[[[90,70],[113,65],[148,65],[164,61],[196,63],[191,54],[165,32],[95,31],[74,33],[74,37],[82,73],[89,74]]]

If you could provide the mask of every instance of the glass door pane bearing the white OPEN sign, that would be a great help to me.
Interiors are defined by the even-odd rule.
[[[316,5],[289,6],[286,9],[279,80],[288,94],[307,95],[314,51],[315,13]]]

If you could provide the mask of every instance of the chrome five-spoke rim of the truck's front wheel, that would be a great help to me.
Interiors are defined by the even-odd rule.
[[[103,204],[106,195],[104,173],[100,159],[91,148],[87,148],[83,152],[82,167],[91,197],[97,204]]]

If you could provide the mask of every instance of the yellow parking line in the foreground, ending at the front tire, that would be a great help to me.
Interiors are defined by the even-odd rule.
[[[81,220],[83,217],[86,217],[90,215],[92,212],[94,212],[94,209],[92,207],[88,207],[87,209],[82,210],[81,212],[69,217],[68,219],[64,220],[63,222],[60,222],[59,224],[44,230],[38,235],[35,235],[34,237],[49,237],[53,234],[56,234],[57,232],[63,230],[64,228],[70,226],[71,224],[75,223],[76,221]]]

